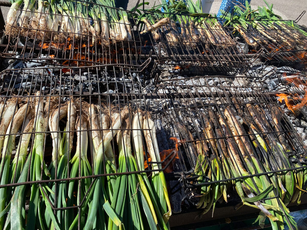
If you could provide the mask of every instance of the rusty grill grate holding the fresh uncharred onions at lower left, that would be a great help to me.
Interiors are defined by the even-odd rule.
[[[65,81],[64,79],[56,83],[61,86],[61,81],[64,82]],[[51,90],[43,90],[42,89],[42,85],[44,84],[43,81],[36,82],[34,86],[32,86],[31,84],[27,92],[25,92],[25,90],[22,89],[22,87],[20,86],[19,91],[16,94],[14,94],[14,91],[11,91],[11,90],[3,91],[3,88],[2,88],[2,92],[1,92],[2,94],[0,96],[0,101],[1,101],[0,105],[2,107],[0,120],[1,120],[2,127],[4,127],[3,124],[17,123],[16,117],[19,116],[18,115],[19,111],[22,111],[22,108],[26,107],[27,109],[25,113],[28,114],[28,115],[25,115],[24,117],[21,117],[22,120],[20,123],[20,126],[21,126],[20,128],[18,127],[18,129],[14,131],[12,128],[13,126],[10,126],[8,124],[9,125],[8,131],[4,133],[2,132],[0,135],[0,140],[2,141],[4,140],[4,144],[2,142],[4,150],[2,151],[2,164],[1,164],[1,169],[0,169],[0,177],[3,179],[1,180],[0,188],[1,188],[1,191],[4,191],[4,189],[7,191],[7,198],[9,200],[11,198],[13,199],[14,197],[11,197],[12,195],[11,193],[15,190],[14,192],[15,194],[17,193],[17,190],[18,190],[19,196],[22,197],[24,202],[28,203],[29,200],[32,199],[32,196],[29,197],[28,196],[29,194],[26,194],[25,190],[28,190],[30,188],[31,188],[31,191],[35,189],[39,189],[40,194],[45,201],[44,207],[46,207],[46,209],[52,210],[57,220],[59,220],[58,215],[60,213],[63,214],[67,210],[68,212],[72,212],[72,218],[75,218],[75,220],[77,221],[75,222],[75,224],[78,224],[78,228],[80,229],[83,226],[81,224],[81,217],[83,217],[84,214],[82,213],[84,212],[84,207],[87,207],[87,204],[89,203],[89,198],[92,196],[93,188],[96,187],[95,183],[100,183],[100,181],[104,180],[105,178],[110,179],[110,177],[112,176],[128,175],[128,174],[135,174],[135,173],[140,175],[142,172],[151,174],[154,171],[155,172],[163,171],[165,168],[167,168],[170,162],[176,156],[174,151],[169,152],[169,154],[165,156],[165,159],[162,159],[161,162],[151,160],[147,156],[147,154],[144,154],[143,156],[143,152],[142,152],[141,153],[142,157],[145,158],[146,165],[148,166],[146,167],[146,170],[135,168],[134,170],[127,170],[127,171],[120,172],[117,165],[118,164],[119,165],[121,164],[129,165],[129,163],[127,162],[129,159],[128,159],[128,153],[125,152],[124,160],[126,161],[126,163],[119,163],[119,146],[118,144],[116,144],[117,142],[115,138],[114,140],[111,140],[109,147],[107,146],[103,147],[104,150],[106,148],[108,149],[111,148],[111,153],[109,153],[108,155],[106,154],[105,157],[102,158],[103,162],[101,166],[101,171],[97,173],[97,171],[95,170],[96,169],[95,164],[98,164],[97,157],[95,158],[95,156],[97,156],[98,153],[97,153],[97,149],[95,149],[95,144],[93,143],[91,139],[92,137],[91,135],[94,135],[95,131],[100,134],[101,132],[103,132],[103,134],[105,135],[107,135],[106,133],[108,132],[113,132],[115,135],[116,134],[119,135],[120,130],[122,132],[124,131],[130,132],[132,128],[131,127],[129,128],[127,126],[124,127],[124,124],[126,124],[128,121],[130,123],[132,122],[132,118],[133,118],[132,112],[136,112],[136,111],[142,111],[141,116],[143,116],[144,119],[148,118],[147,114],[149,114],[148,112],[150,109],[147,107],[144,95],[141,93],[135,93],[135,92],[127,93],[125,91],[125,87],[126,87],[126,84],[128,84],[128,80],[129,79],[126,79],[126,82],[125,80],[123,80],[122,82],[115,80],[115,82],[113,82],[114,91],[122,90],[122,93],[115,93],[115,92],[102,93],[99,91],[99,87],[95,93],[92,93],[91,90],[88,93],[83,92],[82,90],[80,90],[80,92],[74,92],[72,90],[65,91],[63,89],[56,91],[56,90],[52,90],[52,87],[50,87]],[[14,85],[15,83],[14,81],[15,80],[13,79],[12,82],[10,82],[10,85]],[[79,84],[80,88],[82,88],[81,85],[84,82],[85,81],[83,82],[80,81],[76,84]],[[94,80],[91,79],[90,83],[93,83],[93,82]],[[69,83],[72,83],[72,86],[74,86],[73,79],[71,79]],[[101,82],[97,80],[97,84],[100,84],[100,83]],[[54,89],[56,88],[57,84],[53,86]],[[122,86],[120,86],[120,84],[122,84]],[[111,82],[107,82],[107,87],[108,86],[111,87],[111,85],[112,85]],[[36,94],[34,94],[34,92],[39,87],[41,87],[41,92],[37,91]],[[70,86],[68,85],[68,87]],[[66,113],[68,113],[68,111],[72,110],[72,107],[73,107],[71,104],[72,102],[74,102],[74,104],[76,105],[76,109],[77,109],[76,117],[82,117],[81,119],[76,118],[76,128],[71,127],[70,123],[68,123],[68,119],[63,117],[61,109],[58,109],[58,108],[65,107]],[[33,103],[35,104],[35,106]],[[43,105],[42,107],[44,109],[44,112],[42,114],[45,117],[44,123],[43,123],[44,127],[41,129],[38,129],[39,125],[37,125],[37,124],[42,124],[42,123],[38,123],[38,122],[41,122],[41,120],[39,120],[40,119],[39,104]],[[6,105],[6,107],[4,105]],[[92,110],[88,110],[89,105],[91,106],[95,105],[94,106],[95,113],[92,113]],[[8,109],[12,110],[13,113],[9,121],[5,123],[4,120],[7,119]],[[103,128],[103,125],[106,123],[103,122],[102,117],[109,116],[109,117],[112,117],[113,119],[113,115],[114,114],[116,115],[116,113],[119,113],[121,114],[120,116],[122,116],[122,121],[121,121],[122,126],[119,125],[119,127],[116,128],[116,120],[115,121],[112,120],[111,123],[108,123],[108,125]],[[50,119],[52,115],[55,115],[55,119],[53,121],[59,123],[59,125],[56,126],[57,128],[55,130],[51,130],[50,128],[50,122],[51,122]],[[96,128],[96,126],[94,126],[94,118],[92,117],[93,115],[96,117],[96,119],[99,120],[99,128]],[[124,120],[124,119],[127,119],[127,120]],[[85,127],[81,126],[82,124],[84,124],[84,121],[87,121],[87,126]],[[27,129],[33,126],[33,125],[29,125],[30,122],[32,122],[32,124],[33,123],[36,124],[33,130]],[[79,126],[81,126],[82,128],[80,129]],[[148,130],[146,129],[146,127],[141,129],[142,133],[145,132],[146,130]],[[70,153],[69,155],[71,155],[71,157],[69,156],[68,159],[66,159],[66,163],[63,163],[64,160],[63,162],[62,160],[54,161],[54,159],[58,159],[59,157],[60,159],[62,159],[63,151],[61,149],[62,148],[64,149],[63,146],[65,146],[65,144],[63,144],[64,136],[67,136],[71,133],[74,133],[70,137],[72,138],[72,146],[68,147],[68,152]],[[88,145],[84,144],[84,141],[82,142],[83,140],[82,138],[84,137],[81,137],[80,140],[78,139],[79,135],[82,135],[84,133],[86,134],[86,136],[88,135],[88,137],[86,137],[86,139],[88,138]],[[26,144],[26,146],[23,149],[21,149],[21,151],[18,151],[18,148],[16,151],[5,150],[5,149],[13,148],[15,146],[20,147],[22,143],[21,140],[24,140],[23,138],[25,138],[25,136],[28,134],[30,134],[30,136],[28,136],[29,145]],[[41,140],[41,145],[38,145],[37,138],[40,135],[43,136],[43,138]],[[105,135],[103,136],[104,138],[105,138]],[[14,137],[14,141],[12,142],[12,144],[8,144],[8,142],[6,141],[6,139],[9,138],[10,136]],[[63,137],[62,141],[58,139],[59,136]],[[149,138],[153,140],[154,136],[150,136]],[[105,139],[103,140],[105,141]],[[125,142],[125,140],[123,140],[124,144],[131,144],[131,143]],[[105,144],[104,141],[102,142],[103,143],[102,146]],[[132,141],[132,138],[131,138],[131,141]],[[143,141],[144,151],[147,152],[149,146],[147,147],[147,144],[146,144],[147,142],[145,141],[145,139],[144,140],[142,139],[142,141]],[[41,158],[42,158],[41,159],[42,164],[37,163],[36,156],[37,154],[39,154],[38,146],[40,146],[41,151],[42,151],[40,152]],[[131,146],[133,146],[133,144],[131,144]],[[133,147],[131,148],[132,148],[132,152],[134,153],[134,157],[136,158],[136,160],[138,160],[138,157],[135,152],[136,150],[133,149]],[[84,152],[82,152],[82,149],[85,151],[85,155],[84,155]],[[156,153],[156,154],[158,155],[159,153]],[[11,157],[14,159],[12,163],[10,161]],[[77,157],[79,157],[80,160],[76,160]],[[4,161],[4,159],[8,159],[8,161]],[[88,159],[89,161],[88,165],[86,166],[86,164],[81,159]],[[96,160],[93,161],[93,159],[96,159]],[[107,161],[109,161],[110,159],[114,160],[114,164],[115,164],[114,169],[110,169],[110,167],[109,168],[107,167],[107,165],[109,164],[107,163]],[[170,160],[170,162],[165,163],[167,160]],[[3,163],[3,162],[8,162],[8,163]],[[17,163],[16,169],[18,168],[18,165],[19,165],[20,171],[16,170],[14,174],[8,175],[8,169],[10,167],[13,167],[14,162]],[[158,165],[157,166],[158,168],[153,168],[152,167],[153,164]],[[163,164],[163,167],[161,166],[162,164]],[[46,166],[49,168],[49,171],[50,171],[49,175],[48,175]],[[23,167],[22,171],[20,167]],[[36,169],[36,173],[33,173],[32,171],[33,167]],[[88,168],[86,169],[86,167]],[[59,170],[63,170],[62,176],[60,176],[58,173],[55,173],[55,172],[59,172]],[[85,173],[86,170],[88,170],[87,173]],[[67,193],[67,190],[66,192],[64,192],[65,189],[68,189],[69,184],[75,184],[73,188],[70,188],[72,189],[73,197],[69,197],[69,195],[65,195],[65,194],[69,194],[69,192]],[[82,191],[82,192],[77,193],[77,191]],[[62,192],[64,192],[64,194]],[[134,194],[134,196],[136,195]],[[66,202],[63,203],[62,199],[66,200]],[[33,204],[33,202],[34,201],[31,200],[30,203]],[[41,203],[39,205],[41,205]],[[21,206],[21,208],[22,207],[24,206]],[[32,206],[30,207],[26,206],[25,209],[26,211],[29,211],[29,213],[30,211],[32,212],[34,210]],[[76,211],[69,211],[69,210],[76,210]],[[77,213],[79,214],[76,217]],[[29,220],[30,218],[29,214],[27,214],[27,217]],[[7,219],[7,221],[10,221],[10,220]],[[70,220],[70,222],[72,221],[73,219]],[[63,224],[63,222],[61,224]],[[39,223],[37,222],[37,226],[38,225]]]

